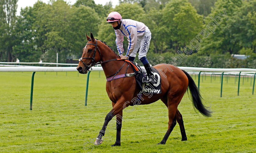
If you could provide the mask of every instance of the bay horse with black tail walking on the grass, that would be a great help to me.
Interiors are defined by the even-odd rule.
[[[87,44],[83,49],[82,57],[77,66],[79,73],[86,74],[91,66],[101,64],[105,76],[111,77],[117,74],[133,73],[133,68],[127,60],[121,60],[120,57],[109,47],[98,39],[94,39],[93,34],[91,37],[87,36]],[[130,65],[130,66],[129,66]],[[151,97],[142,94],[140,100],[134,100],[140,93],[140,88],[136,83],[135,77],[122,77],[115,80],[106,82],[106,91],[109,99],[112,101],[112,110],[106,115],[105,122],[99,132],[99,135],[94,142],[95,145],[102,143],[102,137],[105,135],[108,122],[116,116],[116,142],[111,146],[120,146],[121,127],[123,110],[126,107],[134,105],[151,104],[159,99],[168,108],[168,130],[166,131],[164,138],[158,144],[165,144],[170,133],[172,132],[176,121],[180,126],[181,141],[186,141],[187,136],[183,124],[182,115],[177,109],[180,101],[185,94],[186,90],[190,89],[190,95],[192,97],[194,110],[199,111],[205,117],[211,116],[211,111],[207,110],[202,104],[201,95],[194,80],[190,75],[171,64],[158,64],[153,66],[160,72],[161,76],[161,94],[153,94]],[[166,69],[163,69],[165,67]]]

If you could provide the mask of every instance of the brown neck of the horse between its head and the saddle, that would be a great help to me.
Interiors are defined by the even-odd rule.
[[[113,60],[119,58],[116,53],[114,53],[109,47],[106,46],[105,49],[101,49],[101,61]],[[106,63],[101,64],[103,71],[106,77],[112,76],[115,74],[123,65],[123,62],[120,60],[113,60]]]

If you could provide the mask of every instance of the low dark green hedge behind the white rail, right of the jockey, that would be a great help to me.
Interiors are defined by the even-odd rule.
[[[183,54],[186,56],[185,54]],[[180,56],[182,61],[176,63],[174,58]],[[225,55],[210,55],[210,56],[199,56],[198,54],[188,55],[183,58],[181,55],[173,53],[154,54],[148,53],[147,59],[150,64],[157,65],[159,63],[170,63],[173,62],[176,66],[187,66],[187,67],[205,67],[205,68],[256,68],[256,56],[253,54],[247,59],[241,60],[233,58],[230,54]],[[178,60],[178,59],[177,59]],[[139,60],[135,60],[140,64]],[[178,61],[179,62],[179,61]]]

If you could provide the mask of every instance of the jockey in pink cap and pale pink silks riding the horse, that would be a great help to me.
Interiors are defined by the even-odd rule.
[[[122,16],[118,12],[109,13],[107,22],[115,29],[116,46],[121,59],[134,61],[136,53],[140,48],[138,57],[143,63],[148,75],[148,80],[144,80],[143,82],[148,83],[151,81],[157,83],[152,68],[146,58],[151,39],[151,32],[148,27],[142,22],[122,19]],[[123,56],[124,36],[128,38],[128,49],[125,56]]]

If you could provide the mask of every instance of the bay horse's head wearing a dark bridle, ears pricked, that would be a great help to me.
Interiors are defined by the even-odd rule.
[[[79,59],[77,70],[79,73],[86,74],[87,71],[101,60],[100,51],[97,46],[97,40],[91,33],[91,38],[87,36],[87,44],[83,49],[82,57]],[[97,51],[98,50],[98,51]]]

